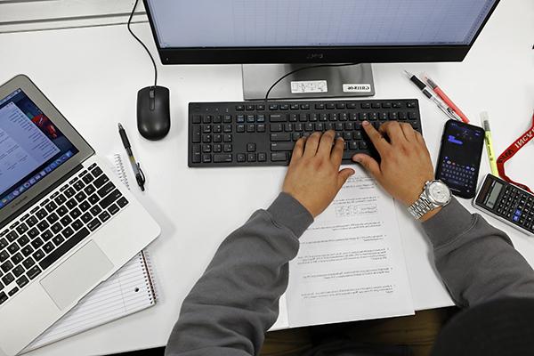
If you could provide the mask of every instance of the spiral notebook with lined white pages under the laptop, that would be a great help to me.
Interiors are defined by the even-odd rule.
[[[130,189],[121,155],[113,155],[110,159],[114,172]],[[149,256],[142,251],[108,280],[85,295],[76,307],[37,337],[21,353],[149,308],[156,303],[157,298],[152,280]]]

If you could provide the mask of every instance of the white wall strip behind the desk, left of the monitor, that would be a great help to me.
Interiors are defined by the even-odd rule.
[[[125,23],[134,0],[0,0],[0,33]],[[134,21],[146,21],[142,0]]]

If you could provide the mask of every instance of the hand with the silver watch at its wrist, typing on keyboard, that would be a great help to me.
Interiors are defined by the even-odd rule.
[[[380,164],[365,154],[352,157],[375,177],[393,198],[410,206],[416,202],[425,187],[433,181],[433,165],[423,136],[407,123],[390,121],[378,131],[364,121],[363,129],[380,154]],[[384,138],[387,135],[389,142]]]

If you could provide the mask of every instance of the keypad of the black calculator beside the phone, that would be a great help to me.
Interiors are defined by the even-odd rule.
[[[506,186],[497,206],[506,220],[534,232],[534,196],[511,185]]]

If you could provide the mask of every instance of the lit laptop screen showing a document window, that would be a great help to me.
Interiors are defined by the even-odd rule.
[[[22,89],[0,98],[0,209],[77,152]]]

